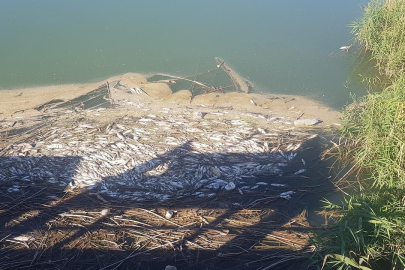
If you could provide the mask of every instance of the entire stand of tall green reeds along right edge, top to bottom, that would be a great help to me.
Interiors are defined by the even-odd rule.
[[[392,84],[344,111],[339,153],[359,190],[325,202],[337,223],[314,243],[324,267],[405,269],[405,0],[372,0],[353,33]]]

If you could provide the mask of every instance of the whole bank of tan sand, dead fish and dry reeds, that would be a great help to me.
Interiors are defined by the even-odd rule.
[[[39,266],[75,268],[94,251],[100,268],[159,258],[253,269],[311,248],[307,205],[334,190],[318,166],[339,113],[297,96],[191,99],[136,74],[92,87],[2,115],[0,237],[13,254],[2,268],[36,251]]]

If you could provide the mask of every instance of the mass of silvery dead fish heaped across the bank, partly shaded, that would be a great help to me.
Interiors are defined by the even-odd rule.
[[[281,175],[294,159],[300,144],[284,153],[279,136],[247,120],[198,113],[59,123],[32,143],[3,150],[0,181],[87,188],[136,201],[243,193],[257,187],[256,176]]]

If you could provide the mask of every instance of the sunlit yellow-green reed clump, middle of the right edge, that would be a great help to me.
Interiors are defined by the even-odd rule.
[[[373,187],[403,189],[405,76],[381,93],[352,104],[342,120],[342,136],[350,138],[344,158],[352,159],[359,170],[368,173]]]

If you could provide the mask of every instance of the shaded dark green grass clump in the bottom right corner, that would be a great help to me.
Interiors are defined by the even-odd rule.
[[[324,266],[404,269],[404,205],[395,192],[357,195],[341,205],[325,203],[329,213],[338,217],[338,224],[314,239],[324,255]]]

